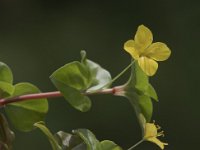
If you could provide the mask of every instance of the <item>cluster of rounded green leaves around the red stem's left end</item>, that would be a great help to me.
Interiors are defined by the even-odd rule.
[[[0,99],[8,100],[25,94],[40,93],[40,90],[30,83],[18,83],[13,85],[11,69],[0,62]],[[8,99],[3,99],[8,98]],[[7,104],[6,114],[11,123],[20,131],[32,130],[35,122],[44,120],[48,111],[46,99],[29,100]]]

